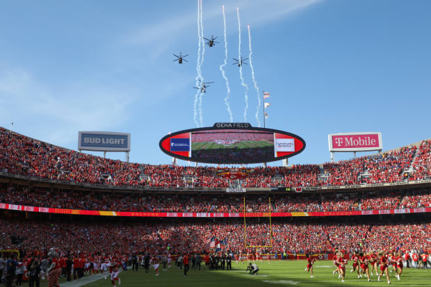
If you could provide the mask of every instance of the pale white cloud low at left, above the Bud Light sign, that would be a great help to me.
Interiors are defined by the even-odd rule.
[[[0,71],[3,125],[15,122],[14,128],[26,134],[38,129],[38,138],[56,145],[69,145],[80,129],[120,126],[129,118],[133,102],[125,93],[101,86],[48,88],[24,69]]]

